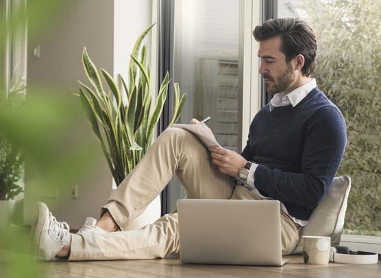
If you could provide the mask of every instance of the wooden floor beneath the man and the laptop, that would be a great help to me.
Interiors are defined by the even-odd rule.
[[[4,254],[3,254],[4,255]],[[302,256],[282,267],[181,264],[178,257],[134,261],[38,262],[45,277],[381,277],[381,262],[371,265],[306,265]],[[1,270],[0,270],[1,273]],[[1,275],[0,275],[1,277]]]

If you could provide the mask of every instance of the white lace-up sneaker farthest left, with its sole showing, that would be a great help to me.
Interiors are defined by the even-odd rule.
[[[51,260],[71,240],[69,225],[58,222],[47,205],[37,202],[32,216],[32,250],[34,259]]]

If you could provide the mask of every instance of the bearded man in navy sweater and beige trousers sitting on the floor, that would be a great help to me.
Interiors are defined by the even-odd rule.
[[[100,220],[86,221],[77,234],[45,204],[36,204],[32,238],[38,258],[149,259],[179,251],[177,213],[125,231],[174,174],[188,198],[280,200],[282,253],[293,251],[300,227],[339,167],[345,121],[310,78],[317,44],[304,21],[269,20],[253,34],[260,43],[260,74],[268,93],[277,94],[254,117],[242,155],[217,146],[206,150],[189,132],[169,128],[112,192]]]

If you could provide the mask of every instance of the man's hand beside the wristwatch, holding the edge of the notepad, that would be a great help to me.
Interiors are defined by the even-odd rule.
[[[240,154],[219,146],[211,146],[208,149],[212,155],[213,163],[219,167],[223,174],[238,176],[238,171],[245,167],[247,160]]]

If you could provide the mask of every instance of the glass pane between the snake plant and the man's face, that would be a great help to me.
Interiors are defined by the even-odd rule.
[[[238,150],[238,5],[236,0],[175,1],[175,74],[188,93],[178,123],[208,116],[223,148]],[[172,207],[184,198],[177,178],[171,189]]]

